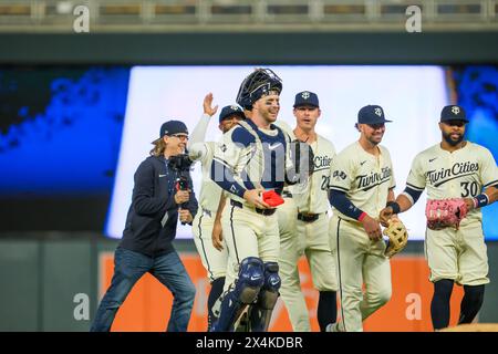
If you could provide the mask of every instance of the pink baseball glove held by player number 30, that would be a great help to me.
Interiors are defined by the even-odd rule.
[[[430,230],[442,230],[446,227],[458,230],[461,219],[467,216],[467,205],[463,198],[427,200],[425,216]]]

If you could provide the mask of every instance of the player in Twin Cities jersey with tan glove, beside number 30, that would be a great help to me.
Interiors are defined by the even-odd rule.
[[[342,321],[328,331],[363,331],[362,322],[391,299],[391,268],[375,219],[387,200],[394,200],[393,166],[381,146],[385,132],[384,111],[377,105],[360,110],[360,139],[331,164],[330,242],[336,252]],[[365,284],[365,292],[362,285]]]

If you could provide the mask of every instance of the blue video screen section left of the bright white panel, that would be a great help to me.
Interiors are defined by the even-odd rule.
[[[0,197],[105,194],[129,69],[0,70]]]

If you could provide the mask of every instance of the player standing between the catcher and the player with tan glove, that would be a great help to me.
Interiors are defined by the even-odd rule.
[[[298,261],[305,254],[314,288],[320,292],[318,321],[323,332],[336,319],[335,260],[329,244],[329,180],[330,164],[335,155],[333,144],[317,134],[314,127],[321,115],[315,93],[295,95],[293,114],[297,127],[291,138],[311,145],[314,170],[305,186],[288,187],[286,202],[278,208],[280,228],[280,294],[297,332],[310,332],[311,325],[299,279]]]

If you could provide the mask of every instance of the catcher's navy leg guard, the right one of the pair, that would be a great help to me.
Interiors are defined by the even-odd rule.
[[[250,312],[252,332],[266,332],[270,325],[271,312],[279,298],[280,289],[279,264],[264,263],[264,284],[258,295],[257,303]]]

